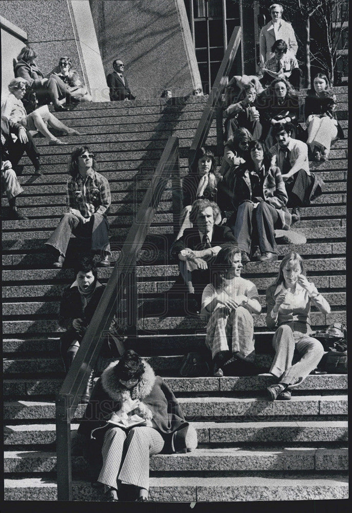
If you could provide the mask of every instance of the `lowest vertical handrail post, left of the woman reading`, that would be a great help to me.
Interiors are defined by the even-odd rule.
[[[71,421],[68,397],[56,396],[57,500],[72,501]]]

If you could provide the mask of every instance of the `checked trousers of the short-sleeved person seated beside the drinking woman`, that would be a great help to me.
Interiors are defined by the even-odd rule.
[[[253,318],[251,313],[239,306],[228,313],[226,308],[217,308],[211,314],[207,325],[205,344],[214,358],[219,351],[231,350],[238,358],[253,362],[255,349],[253,342]]]

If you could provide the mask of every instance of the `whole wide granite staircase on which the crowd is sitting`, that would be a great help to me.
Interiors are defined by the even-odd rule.
[[[347,134],[347,88],[336,88],[338,117]],[[28,221],[3,221],[3,351],[5,500],[56,500],[55,393],[64,379],[56,324],[62,290],[73,281],[71,261],[51,268],[44,242],[65,211],[66,163],[78,144],[96,153],[110,182],[113,260],[133,219],[148,176],[169,135],[180,139],[181,175],[206,97],[82,105],[60,119],[85,133],[66,137],[68,146],[37,139],[44,175],[34,177],[27,157],[18,206]],[[213,122],[207,144],[216,146]],[[307,243],[297,249],[308,273],[331,305],[328,315],[312,312],[314,327],[345,322],[345,231],[347,140],[330,160],[311,163],[326,190],[302,209],[295,230]],[[199,448],[150,460],[152,501],[257,501],[339,499],[348,496],[347,377],[309,376],[291,401],[270,402],[269,376],[178,377],[185,353],[204,345],[205,324],[182,314],[182,299],[165,293],[178,275],[167,248],[173,239],[171,183],[165,191],[138,262],[139,339],[136,349],[165,377],[198,431]],[[3,209],[6,214],[6,208]],[[74,241],[73,241],[74,242]],[[72,253],[72,251],[71,251]],[[265,289],[278,263],[246,265],[245,277],[259,290],[263,312],[255,315],[257,364],[270,365],[271,334],[265,326]],[[110,269],[100,269],[105,283]],[[172,312],[172,314],[170,314]],[[172,316],[171,316],[172,315]],[[77,408],[72,433],[84,411]],[[101,500],[79,450],[73,458],[74,500]]]

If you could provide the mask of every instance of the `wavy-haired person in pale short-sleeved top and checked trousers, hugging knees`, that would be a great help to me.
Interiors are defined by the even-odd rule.
[[[257,287],[241,277],[241,250],[224,244],[212,264],[212,283],[202,295],[201,318],[207,320],[205,344],[213,376],[256,372],[252,313],[259,314]]]

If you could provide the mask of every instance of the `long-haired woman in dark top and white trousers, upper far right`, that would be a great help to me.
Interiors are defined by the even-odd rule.
[[[317,73],[313,79],[313,87],[307,91],[304,105],[307,145],[316,161],[327,160],[331,143],[344,138],[335,111],[336,95],[331,91],[329,79],[325,73]]]

